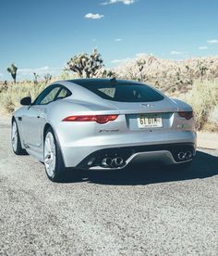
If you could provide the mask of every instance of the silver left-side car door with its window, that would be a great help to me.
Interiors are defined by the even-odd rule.
[[[61,90],[60,85],[47,87],[40,96],[36,98],[22,120],[22,130],[25,144],[28,147],[42,147],[42,130],[46,122],[47,108],[55,100],[55,96]]]

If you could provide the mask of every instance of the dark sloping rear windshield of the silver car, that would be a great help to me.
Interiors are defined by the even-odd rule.
[[[79,83],[104,99],[119,102],[151,102],[163,96],[150,86],[140,83]]]

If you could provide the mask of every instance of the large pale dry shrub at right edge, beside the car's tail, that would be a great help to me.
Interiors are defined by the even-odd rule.
[[[218,108],[218,82],[195,81],[192,90],[180,98],[193,107],[198,130],[209,122],[217,122],[217,119],[212,118],[212,113]]]

